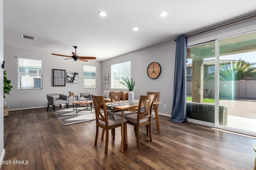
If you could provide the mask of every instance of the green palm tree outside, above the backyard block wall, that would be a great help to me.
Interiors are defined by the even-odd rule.
[[[225,80],[256,80],[256,63],[241,61],[239,58],[230,67],[226,63],[220,64],[220,81]],[[214,69],[212,69],[214,70]],[[214,80],[214,72],[205,80]]]

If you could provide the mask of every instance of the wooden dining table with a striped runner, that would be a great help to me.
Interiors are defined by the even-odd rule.
[[[153,106],[154,106],[154,111],[156,115],[156,119],[158,122],[158,104],[162,102],[157,102],[154,101]],[[108,111],[108,114],[113,114],[115,111],[122,111],[122,125],[121,125],[121,152],[124,152],[124,143],[127,144],[127,138],[126,141],[124,141],[124,111],[130,110],[130,109],[136,109],[139,106],[139,100],[134,100],[133,103],[129,103],[128,101],[123,101],[123,102],[108,102],[106,103],[106,108]],[[142,107],[144,105],[142,104]],[[112,109],[110,109],[112,108]],[[113,111],[111,111],[113,110]],[[158,128],[158,133],[160,133],[160,126],[159,123],[157,123],[157,128]]]

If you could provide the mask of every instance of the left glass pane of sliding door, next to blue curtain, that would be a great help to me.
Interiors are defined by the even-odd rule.
[[[215,42],[187,49],[186,117],[214,123],[215,80],[207,81],[215,70]]]

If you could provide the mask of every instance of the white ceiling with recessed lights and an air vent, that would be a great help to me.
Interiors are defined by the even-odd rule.
[[[104,61],[255,10],[256,0],[4,0],[4,46],[70,56],[78,46]]]

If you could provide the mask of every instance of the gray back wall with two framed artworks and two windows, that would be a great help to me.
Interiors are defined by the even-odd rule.
[[[17,58],[29,57],[43,60],[43,89],[37,90],[18,90],[18,63]],[[6,76],[11,80],[13,89],[10,95],[6,95],[4,102],[7,102],[10,110],[29,109],[46,107],[46,94],[60,93],[68,95],[68,91],[78,94],[80,92],[90,92],[92,94],[101,94],[101,62],[90,60],[89,62],[64,60],[64,57],[51,55],[50,51],[39,53],[35,51],[25,51],[4,47],[4,60]],[[97,66],[97,88],[84,89],[83,64]],[[66,83],[66,86],[52,86],[52,69],[66,70],[66,72],[78,72],[78,83]],[[73,98],[70,98],[70,102]]]

